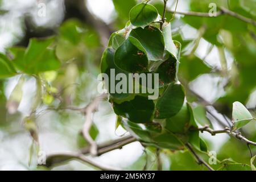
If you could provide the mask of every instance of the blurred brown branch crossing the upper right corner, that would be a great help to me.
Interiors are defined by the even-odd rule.
[[[234,11],[230,11],[226,9],[225,7],[220,7],[220,11],[217,11],[216,16],[210,16],[209,13],[201,13],[201,12],[195,12],[195,11],[189,11],[189,12],[179,12],[179,11],[171,11],[168,10],[169,13],[176,13],[180,15],[188,15],[188,16],[201,16],[201,17],[207,17],[207,18],[213,18],[221,15],[230,15],[233,16],[234,18],[240,19],[243,22],[250,23],[253,26],[256,26],[256,22],[253,19],[246,18],[245,16],[242,16],[238,13],[235,13]]]

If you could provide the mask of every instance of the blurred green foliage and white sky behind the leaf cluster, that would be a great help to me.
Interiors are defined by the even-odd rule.
[[[84,115],[62,108],[81,108],[98,96],[97,75],[109,36],[125,26],[130,9],[140,2],[0,1],[0,169],[47,169],[36,166],[36,150],[51,154],[76,151],[88,145],[81,135]],[[46,5],[45,16],[38,14],[42,9],[40,3]],[[162,14],[163,1],[150,3]],[[172,18],[175,3],[168,1],[167,21]],[[208,13],[210,3],[256,19],[255,0],[184,0],[179,1],[177,11]],[[185,86],[187,100],[193,102],[200,125],[212,125],[214,129],[229,126],[234,101],[246,105],[255,117],[256,27],[253,24],[230,15],[209,18],[177,13],[172,20],[172,36],[182,45],[179,78]],[[1,59],[7,57],[15,60],[20,72],[2,65]],[[24,62],[30,66],[26,67]],[[9,72],[3,73],[1,67],[8,67]],[[4,78],[5,75],[11,77]],[[90,135],[96,142],[127,134],[122,127],[115,130],[115,115],[108,101],[101,102],[93,121]],[[255,122],[241,129],[253,141],[256,141],[255,131]],[[225,165],[213,165],[214,169],[247,167],[230,166],[229,160],[250,165],[246,144],[226,134],[201,135],[209,150],[217,152],[218,160],[224,160],[221,164]],[[251,152],[255,155],[256,148],[251,147]],[[202,157],[208,160],[206,155]],[[188,151],[164,150],[160,158],[164,170],[205,170]],[[139,142],[93,160],[123,169],[157,168],[155,148],[144,148]],[[52,169],[94,168],[71,161]]]

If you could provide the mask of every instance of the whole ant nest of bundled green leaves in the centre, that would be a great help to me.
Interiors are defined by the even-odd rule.
[[[130,12],[134,27],[128,22],[124,29],[110,36],[101,59],[101,72],[108,76],[110,69],[115,69],[115,74],[126,76],[127,73],[158,73],[159,85],[154,85],[154,81],[152,85],[159,88],[160,97],[152,101],[148,100],[149,93],[109,92],[118,122],[149,146],[179,150],[184,148],[184,143],[191,141],[199,150],[207,151],[199,131],[191,131],[192,127],[197,127],[196,121],[191,106],[185,102],[183,86],[176,77],[181,45],[172,40],[170,23],[164,24],[160,30],[154,23],[155,16],[144,16],[152,11],[147,7],[152,5],[135,6]],[[113,83],[104,81],[106,89],[111,91],[109,86]],[[139,84],[140,89],[147,87],[141,81]],[[118,86],[117,81],[114,86]]]

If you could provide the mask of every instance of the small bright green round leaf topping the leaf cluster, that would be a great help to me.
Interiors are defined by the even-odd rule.
[[[158,10],[152,5],[141,3],[130,11],[130,21],[134,26],[145,27],[158,17]]]

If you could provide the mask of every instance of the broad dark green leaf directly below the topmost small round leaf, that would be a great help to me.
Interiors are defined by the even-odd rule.
[[[130,36],[138,39],[147,52],[149,60],[163,60],[164,39],[162,32],[156,27],[136,28],[130,32]]]

